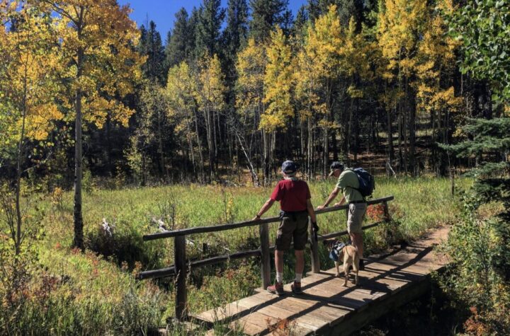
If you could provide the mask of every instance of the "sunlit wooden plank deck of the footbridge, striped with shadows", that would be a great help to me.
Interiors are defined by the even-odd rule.
[[[331,268],[304,277],[305,294],[295,295],[290,291],[290,284],[285,284],[284,296],[259,290],[252,296],[195,317],[210,323],[225,321],[230,328],[240,329],[246,335],[281,335],[278,327],[291,330],[293,335],[341,330],[339,325],[344,320],[353,320],[353,316],[360,319],[362,314],[367,318],[380,315],[373,311],[378,305],[384,306],[378,302],[422,283],[431,270],[445,265],[447,260],[434,253],[431,247],[446,238],[448,230],[448,227],[439,228],[421,241],[382,259],[369,258],[365,270],[359,272],[360,286],[354,286],[351,281],[344,286],[343,274],[341,278],[335,277],[336,268]]]

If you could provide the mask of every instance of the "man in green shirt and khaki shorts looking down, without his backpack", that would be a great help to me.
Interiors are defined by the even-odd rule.
[[[334,207],[347,202],[348,204],[348,217],[347,217],[347,232],[351,237],[353,246],[358,250],[360,257],[360,270],[363,270],[363,216],[365,216],[367,204],[361,192],[359,192],[358,175],[350,169],[344,169],[344,165],[338,161],[331,163],[331,173],[338,178],[338,182],[334,190],[329,194],[324,205],[317,207],[317,210],[324,209],[329,203],[333,201],[336,195],[341,192],[344,196],[340,202],[335,203]]]

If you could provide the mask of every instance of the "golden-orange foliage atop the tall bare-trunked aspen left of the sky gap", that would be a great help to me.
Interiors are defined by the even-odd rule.
[[[133,50],[139,31],[129,18],[129,6],[116,1],[44,0],[43,4],[59,14],[55,18],[60,40],[60,73],[66,78],[62,98],[67,108],[74,107],[77,93],[82,95],[84,120],[102,127],[109,115],[127,125],[134,112],[115,97],[134,91],[141,79],[144,58]]]

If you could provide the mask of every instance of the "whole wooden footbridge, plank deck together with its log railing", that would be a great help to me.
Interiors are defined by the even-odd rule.
[[[387,202],[392,199],[390,196],[368,202],[369,205],[382,204],[385,219],[363,226],[364,230],[390,220]],[[317,214],[342,209],[347,209],[346,205],[322,209],[317,211]],[[191,318],[211,326],[225,324],[246,335],[348,335],[387,313],[390,308],[424,294],[430,286],[430,272],[438,270],[446,262],[445,258],[433,252],[433,245],[446,238],[448,233],[448,228],[441,228],[405,248],[392,250],[386,255],[371,256],[368,262],[365,262],[365,270],[359,273],[359,286],[349,282],[348,287],[344,287],[344,279],[335,277],[334,268],[320,270],[318,242],[312,240],[312,272],[302,279],[305,293],[293,294],[290,284],[286,284],[286,294],[276,296],[264,289],[270,284],[271,251],[274,249],[269,245],[268,224],[278,221],[278,217],[273,217],[261,221],[201,226],[144,236],[145,240],[173,237],[175,263],[162,270],[142,272],[139,277],[176,277],[176,318],[179,320]],[[186,235],[255,225],[260,226],[260,249],[193,262],[186,260]],[[319,241],[344,234],[346,231],[328,233],[319,237]],[[186,313],[188,270],[250,256],[261,257],[262,288],[256,290],[256,294],[200,314]]]

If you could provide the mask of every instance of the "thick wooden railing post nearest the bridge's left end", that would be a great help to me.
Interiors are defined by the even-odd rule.
[[[174,238],[174,267],[176,272],[176,318],[186,318],[186,236]]]

